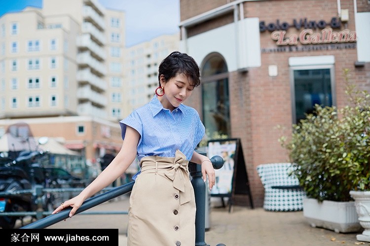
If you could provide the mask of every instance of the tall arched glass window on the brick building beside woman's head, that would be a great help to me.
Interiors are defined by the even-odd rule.
[[[221,55],[213,54],[202,69],[203,123],[206,130],[230,136],[230,105],[227,66]]]

